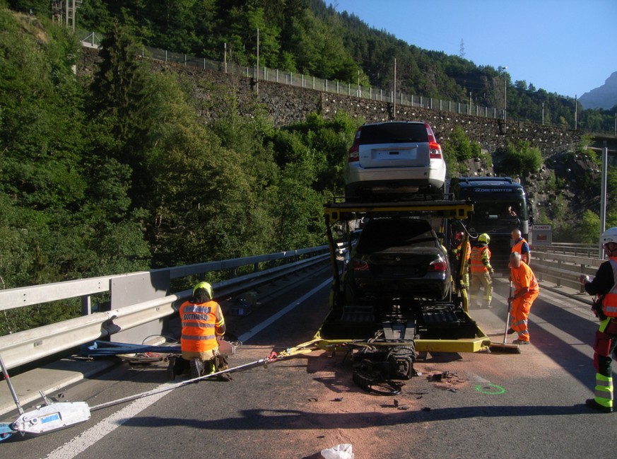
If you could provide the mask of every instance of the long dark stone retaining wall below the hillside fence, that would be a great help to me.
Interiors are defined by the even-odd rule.
[[[91,73],[98,59],[96,50],[84,49],[79,71],[82,74]],[[236,101],[240,115],[251,116],[256,103],[261,103],[269,113],[276,127],[302,122],[311,112],[324,117],[332,117],[343,110],[352,117],[365,122],[381,122],[392,119],[394,106],[392,103],[379,100],[356,98],[349,95],[323,93],[321,91],[290,86],[283,83],[259,81],[259,93],[256,82],[252,78],[225,74],[220,71],[199,69],[175,63],[152,61],[155,69],[175,71],[192,82],[193,97],[208,100],[207,88],[227,88],[228,95]],[[231,97],[230,97],[231,98]],[[225,103],[198,103],[203,107],[201,116],[210,122],[225,107]],[[462,115],[454,112],[431,110],[428,108],[396,105],[396,120],[423,120],[428,122],[437,136],[438,141],[449,139],[454,127],[462,127],[471,141],[477,141],[486,151],[493,152],[507,141],[517,143],[519,140],[529,141],[531,146],[538,147],[543,155],[563,151],[567,146],[580,140],[581,131],[553,126],[542,126],[527,122],[508,121],[507,129],[503,120],[494,118]]]

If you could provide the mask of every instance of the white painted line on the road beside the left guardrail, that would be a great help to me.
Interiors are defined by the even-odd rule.
[[[246,342],[248,339],[252,338],[254,335],[257,335],[257,333],[264,330],[264,328],[268,327],[272,323],[276,322],[276,320],[283,317],[283,315],[288,313],[290,310],[293,310],[293,308],[302,303],[302,301],[305,301],[307,298],[310,298],[310,296],[317,293],[317,291],[319,291],[320,289],[323,289],[325,286],[331,284],[331,281],[332,279],[324,281],[322,284],[315,287],[315,289],[312,289],[306,294],[300,296],[300,298],[293,301],[293,303],[290,303],[288,306],[278,311],[278,313],[273,315],[271,318],[268,318],[256,327],[253,327],[251,330],[240,336],[238,339],[240,339],[241,342]],[[101,438],[105,437],[107,434],[112,433],[112,431],[117,429],[119,426],[122,426],[122,424],[129,421],[137,414],[141,413],[144,409],[148,408],[154,402],[165,397],[165,395],[168,395],[168,393],[171,393],[174,386],[177,386],[177,383],[165,383],[159,385],[157,388],[154,388],[149,393],[143,395],[143,397],[132,402],[131,405],[122,408],[121,410],[115,412],[109,417],[106,417],[95,426],[84,431],[81,435],[76,436],[71,441],[64,443],[63,446],[56,448],[54,451],[52,451],[45,457],[53,459],[73,459],[74,457],[76,457],[76,455],[83,453],[83,451],[86,451],[86,449],[90,448],[90,446],[93,446],[93,444],[95,444]],[[161,392],[155,393],[158,391]],[[150,393],[155,394],[148,395]]]

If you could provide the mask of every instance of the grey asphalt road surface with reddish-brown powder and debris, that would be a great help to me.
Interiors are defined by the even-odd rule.
[[[329,269],[266,289],[254,313],[228,316],[245,337],[230,366],[309,340],[327,312]],[[319,286],[321,288],[318,288]],[[494,341],[505,327],[507,284],[471,315]],[[259,327],[278,310],[288,312]],[[542,289],[522,354],[428,354],[401,395],[371,395],[351,380],[343,353],[312,354],[98,409],[88,422],[0,443],[5,458],[320,458],[351,443],[366,458],[614,457],[617,414],[593,412],[588,306]],[[508,337],[512,339],[513,335]],[[90,407],[170,382],[165,364],[118,364],[61,394]],[[51,394],[54,395],[54,394]],[[10,419],[4,419],[8,421]]]

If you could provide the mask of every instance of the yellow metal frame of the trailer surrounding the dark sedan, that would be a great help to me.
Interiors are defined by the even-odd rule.
[[[375,216],[416,216],[426,218],[440,218],[447,220],[465,220],[469,214],[473,213],[474,205],[470,201],[419,201],[419,202],[385,202],[385,203],[353,203],[353,202],[333,202],[324,206],[324,217],[327,228],[327,236],[329,240],[330,256],[332,260],[332,275],[333,275],[333,296],[341,291],[341,280],[339,265],[336,262],[338,245],[334,241],[331,226],[336,222],[348,222],[352,219],[361,217]],[[460,282],[464,279],[466,273],[466,249],[469,235],[465,233],[462,244],[462,262],[459,264],[459,269],[456,273],[454,281]],[[348,239],[348,250],[351,250],[351,240]],[[456,339],[415,339],[415,348],[418,352],[433,351],[433,352],[477,352],[488,349],[490,339],[474,322],[469,315],[469,301],[466,294],[466,289],[459,289],[459,298],[464,309],[464,316],[469,320],[470,324],[475,327],[474,337],[456,338]],[[320,349],[334,350],[340,347],[379,347],[379,346],[405,346],[409,345],[409,341],[405,340],[375,340],[375,339],[357,339],[354,337],[343,339],[329,339],[322,336],[322,330],[332,313],[335,298],[331,298],[331,310],[324,322],[317,330],[313,342]]]

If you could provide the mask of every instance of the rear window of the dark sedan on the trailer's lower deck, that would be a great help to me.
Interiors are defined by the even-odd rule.
[[[435,235],[423,220],[372,220],[360,233],[356,253],[367,255],[388,248],[423,245],[436,247]]]

